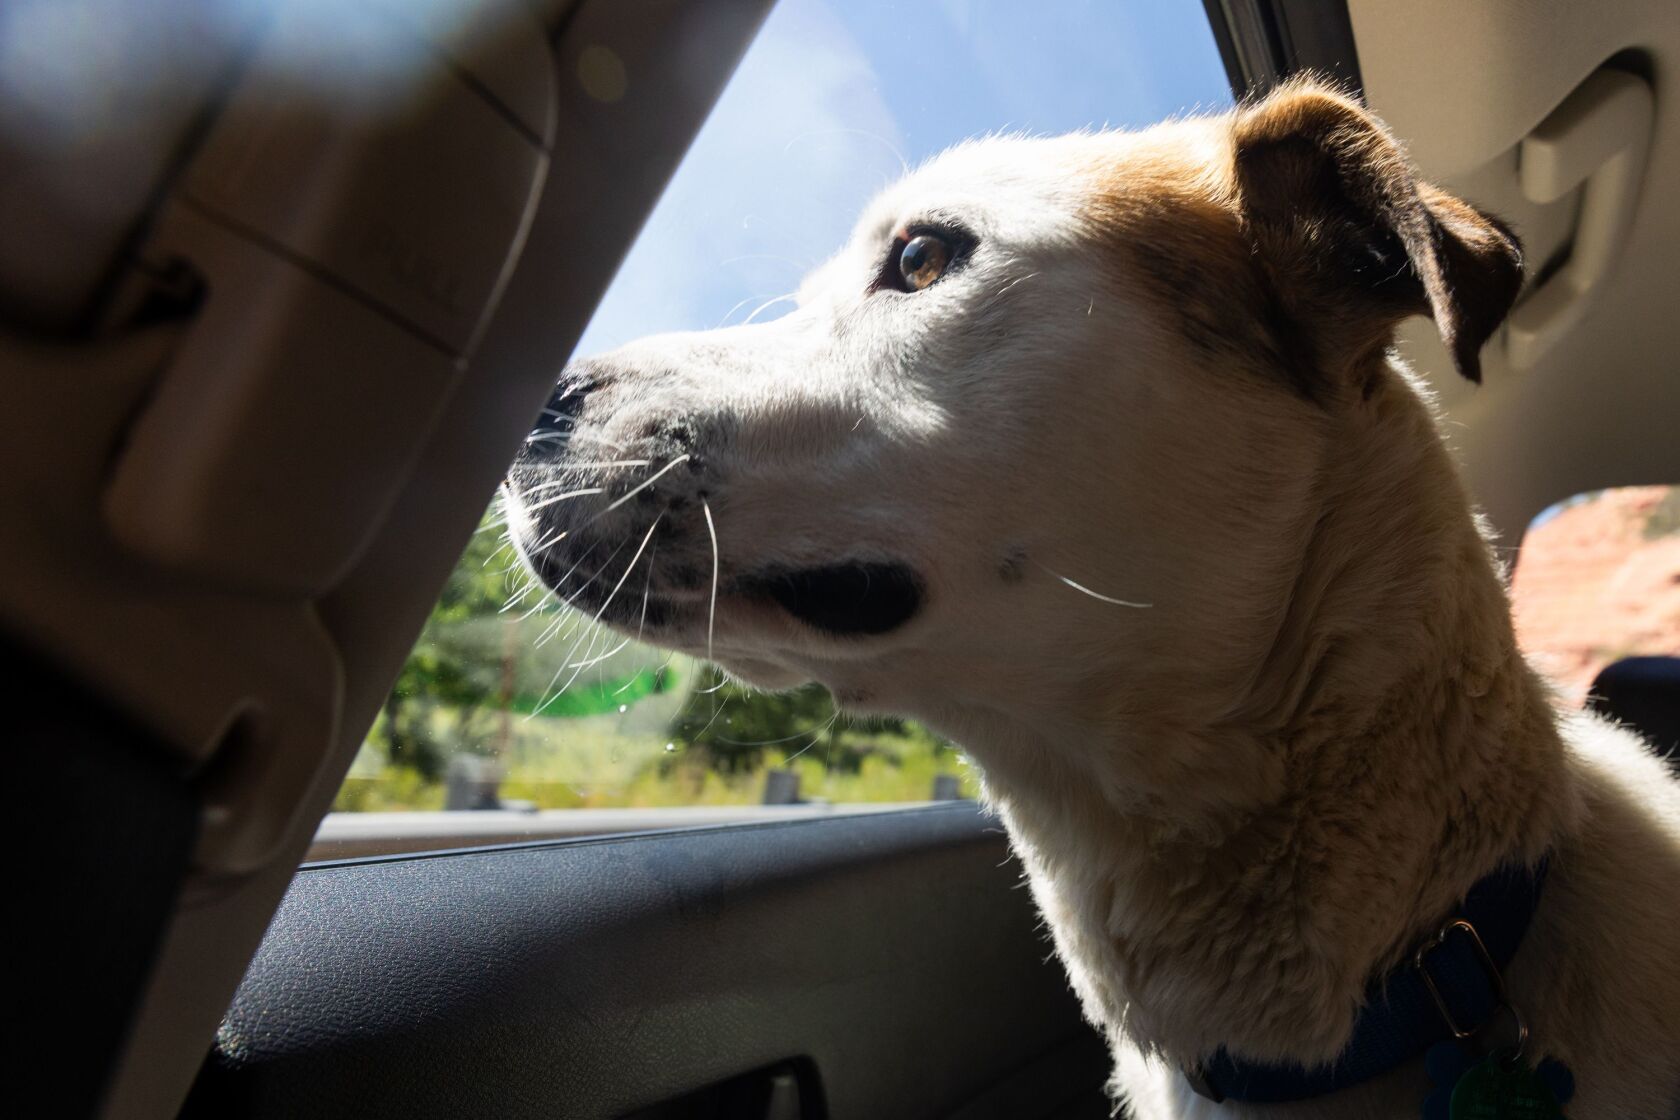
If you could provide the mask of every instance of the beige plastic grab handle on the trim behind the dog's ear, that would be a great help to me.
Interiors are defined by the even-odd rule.
[[[1507,319],[1512,369],[1534,366],[1556,346],[1614,269],[1645,180],[1651,118],[1648,84],[1621,71],[1598,71],[1522,139],[1517,176],[1530,201],[1551,203],[1584,188],[1567,260]]]

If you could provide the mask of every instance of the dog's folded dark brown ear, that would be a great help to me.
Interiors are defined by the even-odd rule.
[[[1317,368],[1386,348],[1399,319],[1425,312],[1458,373],[1480,381],[1482,344],[1522,284],[1510,230],[1420,183],[1388,129],[1317,81],[1238,109],[1233,133],[1252,247],[1282,311],[1317,341]]]

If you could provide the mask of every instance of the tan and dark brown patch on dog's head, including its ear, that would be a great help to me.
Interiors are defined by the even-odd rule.
[[[1310,79],[1119,144],[1092,168],[1089,213],[1196,351],[1320,401],[1368,393],[1418,312],[1480,379],[1522,280],[1504,225],[1420,183],[1381,121]]]

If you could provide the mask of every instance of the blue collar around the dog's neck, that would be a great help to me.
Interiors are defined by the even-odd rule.
[[[1243,1061],[1221,1048],[1200,1070],[1186,1071],[1186,1080],[1213,1102],[1307,1100],[1368,1081],[1440,1041],[1470,1034],[1507,1006],[1500,974],[1529,932],[1544,882],[1546,861],[1532,870],[1504,866],[1477,882],[1415,959],[1371,982],[1352,1038],[1331,1065],[1309,1070]]]

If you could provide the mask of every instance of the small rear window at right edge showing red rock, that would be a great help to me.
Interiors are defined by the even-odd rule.
[[[1571,704],[1611,662],[1680,655],[1680,487],[1552,505],[1522,537],[1510,598],[1517,641]]]

